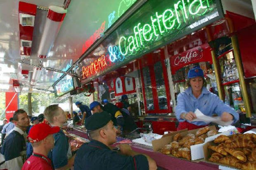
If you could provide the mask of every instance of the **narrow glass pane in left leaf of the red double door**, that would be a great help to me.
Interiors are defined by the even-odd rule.
[[[152,91],[149,67],[143,68],[142,73],[143,73],[143,79],[145,84],[145,97],[147,102],[147,110],[154,110],[153,91]]]

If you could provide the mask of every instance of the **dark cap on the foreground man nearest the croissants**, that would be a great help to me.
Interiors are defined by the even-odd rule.
[[[109,121],[111,121],[111,115],[108,112],[95,113],[85,119],[85,128],[88,131],[96,130],[105,126]]]

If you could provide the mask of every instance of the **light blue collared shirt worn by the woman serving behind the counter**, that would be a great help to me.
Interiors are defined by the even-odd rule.
[[[205,87],[203,87],[202,93],[198,98],[192,94],[191,87],[187,88],[187,90],[178,95],[177,103],[175,114],[176,118],[180,122],[187,121],[180,118],[182,113],[187,113],[190,111],[194,112],[196,109],[199,109],[206,116],[212,116],[213,114],[218,114],[218,116],[221,116],[223,112],[228,112],[234,116],[233,123],[239,119],[239,115],[237,112],[235,112],[235,109],[225,105],[216,94],[211,93]],[[197,126],[206,125],[204,121],[187,122]]]

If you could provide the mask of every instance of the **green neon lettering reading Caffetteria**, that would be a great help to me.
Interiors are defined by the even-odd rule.
[[[119,51],[123,56],[126,56],[128,52],[133,53],[134,50],[140,49],[144,46],[144,42],[149,42],[153,37],[158,37],[159,34],[168,32],[168,30],[174,29],[175,26],[178,29],[181,21],[178,9],[180,8],[183,13],[184,21],[188,19],[188,15],[197,15],[204,9],[205,12],[209,8],[209,0],[193,0],[189,6],[185,7],[185,1],[190,3],[191,0],[179,0],[173,5],[173,9],[166,9],[162,14],[158,12],[155,16],[151,16],[151,23],[146,23],[142,26],[138,23],[137,26],[133,27],[134,35],[129,37],[120,37],[119,39]],[[198,5],[195,8],[195,5]],[[205,13],[204,12],[204,13]],[[175,23],[178,23],[175,25]],[[156,28],[158,30],[156,30]]]

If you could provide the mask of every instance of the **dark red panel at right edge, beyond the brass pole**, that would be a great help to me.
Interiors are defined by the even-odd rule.
[[[237,32],[245,77],[256,76],[256,24]]]

